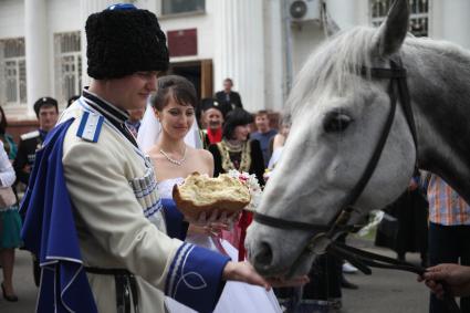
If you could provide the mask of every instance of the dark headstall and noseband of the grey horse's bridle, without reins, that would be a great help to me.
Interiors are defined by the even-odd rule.
[[[271,217],[269,215],[262,215],[259,212],[254,213],[254,220],[259,223],[267,225],[274,228],[288,229],[288,230],[305,230],[312,231],[312,229],[318,230],[321,233],[316,234],[312,241],[315,243],[318,238],[327,238],[332,240],[334,234],[337,232],[345,232],[351,229],[347,227],[347,222],[351,219],[352,212],[355,210],[355,204],[361,197],[364,188],[369,181],[374,170],[377,167],[378,160],[380,159],[382,152],[384,150],[385,143],[387,142],[388,135],[391,129],[391,125],[395,119],[395,112],[397,108],[397,100],[400,100],[400,105],[405,114],[406,121],[408,123],[409,129],[411,132],[412,139],[415,142],[416,153],[418,153],[418,140],[416,133],[415,118],[412,116],[410,96],[407,85],[407,72],[406,69],[401,65],[401,60],[397,58],[397,61],[389,60],[390,67],[366,67],[366,66],[352,66],[352,72],[358,72],[362,76],[377,80],[389,80],[388,84],[388,96],[390,98],[390,111],[388,113],[387,119],[382,129],[380,137],[375,146],[374,153],[367,163],[367,166],[361,176],[357,184],[346,196],[342,209],[334,216],[334,218],[327,225],[321,223],[310,223],[303,221],[288,220]],[[417,155],[417,154],[416,154]],[[310,244],[314,246],[314,244]],[[312,247],[311,247],[312,248]]]

